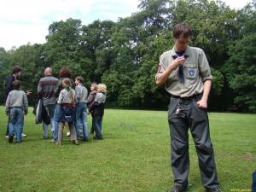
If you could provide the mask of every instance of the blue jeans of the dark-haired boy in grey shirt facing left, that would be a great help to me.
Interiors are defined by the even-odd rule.
[[[76,103],[75,127],[76,127],[76,132],[78,137],[79,137],[79,133],[83,131],[83,137],[88,138],[86,111],[87,111],[87,106],[85,102]],[[81,130],[81,127],[82,127],[82,130]]]

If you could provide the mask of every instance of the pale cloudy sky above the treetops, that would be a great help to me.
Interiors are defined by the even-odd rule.
[[[240,9],[253,0],[224,0]],[[138,0],[0,0],[0,47],[44,44],[54,21],[80,19],[83,25],[94,20],[113,20],[138,11]]]

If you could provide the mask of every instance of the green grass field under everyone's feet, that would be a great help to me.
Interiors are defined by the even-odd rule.
[[[102,141],[61,146],[43,140],[42,125],[25,119],[26,138],[9,144],[0,108],[0,191],[164,192],[172,186],[170,137],[163,111],[108,109]],[[218,177],[224,192],[251,191],[256,170],[256,114],[209,113]],[[89,117],[90,126],[91,119]],[[189,135],[189,191],[201,185]]]

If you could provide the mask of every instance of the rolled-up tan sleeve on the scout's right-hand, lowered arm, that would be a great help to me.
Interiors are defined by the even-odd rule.
[[[201,78],[203,82],[205,82],[206,80],[212,80],[211,68],[207,61],[207,56],[202,49],[199,53],[199,71],[201,73]]]

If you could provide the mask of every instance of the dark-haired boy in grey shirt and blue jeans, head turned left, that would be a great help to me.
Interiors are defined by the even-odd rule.
[[[87,96],[88,90],[84,87],[84,78],[81,76],[75,78],[75,92],[76,92],[76,119],[75,127],[77,131],[77,137],[81,137],[83,132],[84,142],[88,142],[88,132],[87,132]],[[81,130],[81,126],[83,129]]]

